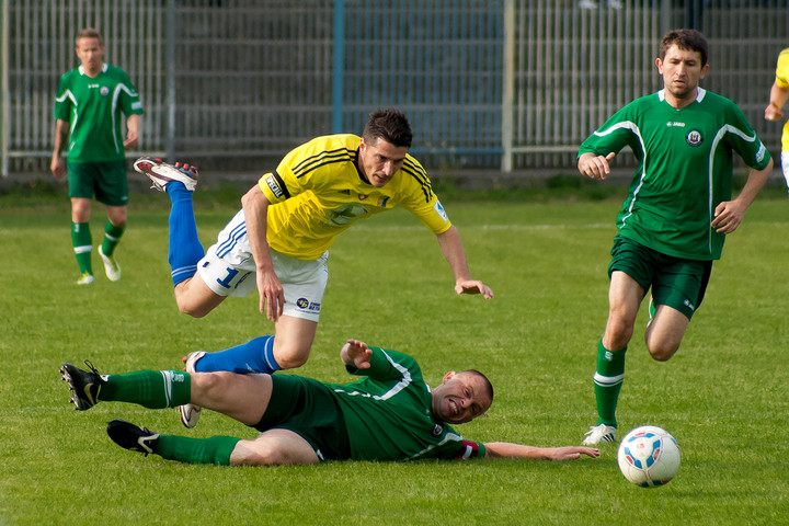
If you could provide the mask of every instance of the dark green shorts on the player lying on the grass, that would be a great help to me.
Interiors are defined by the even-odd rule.
[[[272,375],[272,381],[268,408],[255,430],[293,431],[321,460],[351,458],[345,418],[331,388],[295,375]]]

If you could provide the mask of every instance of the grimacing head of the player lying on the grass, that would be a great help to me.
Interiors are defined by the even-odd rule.
[[[469,373],[448,373],[432,395],[433,414],[450,424],[472,421],[492,402],[482,377]]]

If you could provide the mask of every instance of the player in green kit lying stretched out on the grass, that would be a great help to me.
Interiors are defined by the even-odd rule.
[[[550,460],[597,457],[596,448],[533,447],[466,441],[450,424],[488,411],[493,387],[477,370],[447,373],[431,389],[414,358],[348,340],[340,357],[346,385],[295,375],[239,375],[141,370],[100,376],[71,364],[60,369],[71,401],[84,411],[100,401],[138,403],[149,409],[192,402],[254,427],[254,439],[205,439],[152,433],[114,420],[107,434],[119,446],[170,460],[218,466],[275,466],[322,460],[412,460],[422,458],[511,457]]]

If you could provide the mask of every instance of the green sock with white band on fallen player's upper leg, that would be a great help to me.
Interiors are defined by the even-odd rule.
[[[99,400],[138,403],[148,409],[176,408],[190,402],[188,373],[176,370],[139,370],[107,375]]]

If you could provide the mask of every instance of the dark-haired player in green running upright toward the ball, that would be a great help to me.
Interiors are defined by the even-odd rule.
[[[740,226],[773,170],[769,152],[740,108],[699,88],[709,70],[701,33],[667,33],[655,65],[664,88],[617,112],[579,152],[579,171],[592,179],[605,179],[609,161],[626,146],[638,160],[608,267],[608,321],[594,375],[599,420],[584,444],[616,441],[625,352],[647,291],[652,288],[653,315],[647,348],[654,359],[667,361],[701,304],[725,235]],[[752,170],[730,201],[732,153]]]

